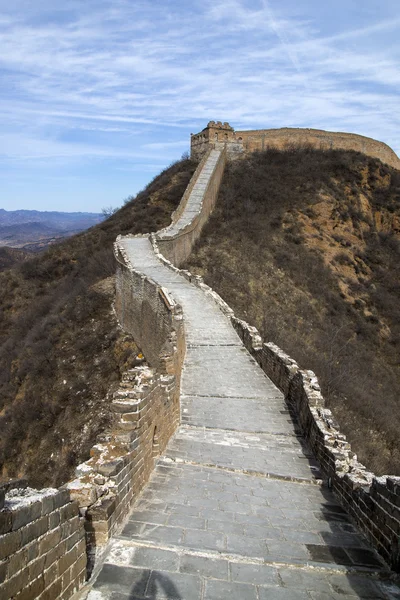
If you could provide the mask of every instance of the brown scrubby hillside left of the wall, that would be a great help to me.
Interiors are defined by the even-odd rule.
[[[109,423],[107,394],[138,349],[112,312],[118,234],[170,223],[182,160],[109,219],[0,273],[0,469],[59,485]]]

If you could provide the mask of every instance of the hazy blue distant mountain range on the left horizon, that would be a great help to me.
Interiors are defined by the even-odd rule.
[[[37,252],[104,219],[100,213],[0,208],[0,246]]]

